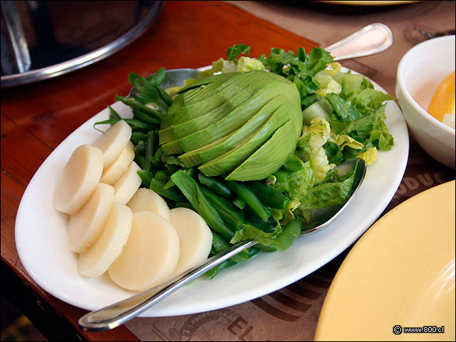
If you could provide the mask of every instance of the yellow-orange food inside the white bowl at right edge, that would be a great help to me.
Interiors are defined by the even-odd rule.
[[[455,71],[445,77],[437,87],[427,113],[455,128]]]

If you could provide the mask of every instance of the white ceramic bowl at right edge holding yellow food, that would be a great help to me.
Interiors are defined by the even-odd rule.
[[[427,113],[432,95],[455,71],[455,36],[433,38],[411,48],[400,60],[396,97],[410,133],[431,157],[455,169],[455,129]]]

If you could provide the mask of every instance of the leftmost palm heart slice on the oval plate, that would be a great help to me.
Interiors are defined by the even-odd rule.
[[[103,153],[97,147],[81,145],[74,150],[63,167],[54,194],[54,206],[59,212],[77,212],[100,182]]]

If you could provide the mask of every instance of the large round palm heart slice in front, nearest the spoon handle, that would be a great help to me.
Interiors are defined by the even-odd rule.
[[[169,279],[179,254],[179,237],[170,222],[154,212],[135,212],[127,244],[108,274],[118,286],[142,291]]]

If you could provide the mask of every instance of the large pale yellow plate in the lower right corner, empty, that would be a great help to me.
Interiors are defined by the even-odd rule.
[[[444,333],[405,332],[423,326]],[[328,290],[315,340],[455,341],[454,180],[399,204],[359,239]]]

